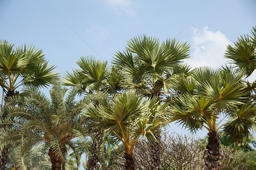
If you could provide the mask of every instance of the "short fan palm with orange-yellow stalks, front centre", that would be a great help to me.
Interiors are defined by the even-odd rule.
[[[95,108],[89,105],[84,114],[104,125],[105,129],[113,135],[117,141],[121,141],[125,148],[125,168],[135,170],[133,160],[133,148],[140,137],[146,137],[155,141],[154,135],[159,134],[160,120],[156,117],[150,120],[151,115],[165,115],[166,104],[160,104],[158,98],[143,102],[143,97],[133,92],[116,94],[110,99],[102,99],[100,105]]]

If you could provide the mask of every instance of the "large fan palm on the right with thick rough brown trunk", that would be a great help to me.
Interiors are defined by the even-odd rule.
[[[172,88],[179,95],[170,98],[171,120],[196,132],[205,128],[209,131],[205,150],[205,169],[221,167],[218,130],[242,141],[250,136],[250,129],[256,124],[256,110],[246,97],[246,85],[242,83],[242,72],[230,68],[212,70],[197,68],[190,76],[177,77]],[[224,118],[220,120],[220,115]]]

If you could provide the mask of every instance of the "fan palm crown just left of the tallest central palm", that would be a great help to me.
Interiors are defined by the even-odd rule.
[[[67,72],[63,77],[63,85],[80,85],[79,94],[94,92],[115,93],[120,90],[120,75],[115,68],[109,68],[107,61],[96,60],[92,56],[81,57],[77,61],[79,69]]]

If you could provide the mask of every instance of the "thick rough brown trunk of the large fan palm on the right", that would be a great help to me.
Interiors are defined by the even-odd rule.
[[[220,154],[220,141],[217,132],[208,133],[208,145],[205,149],[205,170],[221,170],[220,160],[222,155]]]

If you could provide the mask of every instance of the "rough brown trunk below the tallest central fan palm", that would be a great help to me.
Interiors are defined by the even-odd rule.
[[[161,169],[161,135],[155,135],[157,142],[150,142],[150,154],[151,154],[151,170],[160,170]]]

